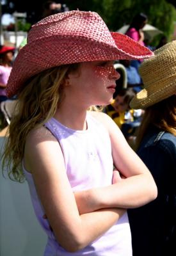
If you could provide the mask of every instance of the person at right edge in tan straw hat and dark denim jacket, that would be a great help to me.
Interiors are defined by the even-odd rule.
[[[130,103],[145,109],[137,154],[158,189],[156,200],[128,211],[133,256],[176,255],[176,41],[154,54],[141,64],[144,89]]]

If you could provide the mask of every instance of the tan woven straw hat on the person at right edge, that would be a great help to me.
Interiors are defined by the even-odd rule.
[[[176,40],[154,54],[141,64],[144,89],[131,100],[131,108],[148,108],[176,93]]]

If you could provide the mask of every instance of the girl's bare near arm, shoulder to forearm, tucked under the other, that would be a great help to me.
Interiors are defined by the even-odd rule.
[[[111,207],[79,214],[60,145],[44,127],[29,133],[24,164],[33,175],[54,235],[65,250],[81,250],[102,236],[124,214],[124,209]]]

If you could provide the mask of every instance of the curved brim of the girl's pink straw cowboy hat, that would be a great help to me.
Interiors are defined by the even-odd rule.
[[[58,35],[52,36],[52,40],[46,37],[26,44],[13,63],[6,94],[12,97],[30,77],[51,67],[85,61],[138,60],[153,55],[147,47],[143,47],[128,36],[120,33],[111,33],[111,35],[115,40],[114,46],[99,41],[90,42],[80,36],[61,38]]]

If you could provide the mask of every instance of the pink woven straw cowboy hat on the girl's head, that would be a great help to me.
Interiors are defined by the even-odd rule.
[[[83,61],[141,59],[152,52],[120,33],[110,33],[95,12],[71,11],[46,17],[29,31],[28,44],[17,55],[6,87],[17,94],[29,77],[64,64]]]

